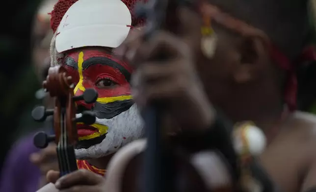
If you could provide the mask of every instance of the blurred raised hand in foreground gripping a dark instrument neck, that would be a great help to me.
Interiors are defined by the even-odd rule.
[[[158,102],[182,129],[205,129],[214,115],[195,70],[193,44],[197,33],[191,28],[190,14],[183,9],[179,15],[180,27],[186,29],[181,36],[158,31],[144,41],[143,32],[134,31],[114,53],[135,69],[132,93],[138,107]]]

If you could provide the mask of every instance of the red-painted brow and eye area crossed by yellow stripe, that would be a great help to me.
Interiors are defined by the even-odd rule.
[[[82,86],[85,89],[96,89],[99,98],[131,95],[127,76],[132,72],[132,68],[125,62],[113,58],[106,49],[89,48],[75,50],[67,54],[64,59],[64,66],[76,84],[80,80],[79,73],[81,69],[78,62],[80,52],[83,52],[81,78]],[[92,62],[85,64],[89,60]],[[98,63],[98,60],[102,62]],[[81,94],[82,90],[78,90],[75,93],[75,95]]]

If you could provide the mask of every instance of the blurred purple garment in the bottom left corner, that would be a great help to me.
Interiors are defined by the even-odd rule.
[[[38,190],[40,170],[29,161],[29,155],[37,152],[33,135],[13,145],[3,164],[0,175],[0,192],[35,192]]]

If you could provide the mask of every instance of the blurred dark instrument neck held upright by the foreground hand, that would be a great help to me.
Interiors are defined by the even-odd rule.
[[[160,29],[174,31],[176,23],[172,14],[177,3],[169,0],[148,0],[139,4],[136,15],[146,19],[144,40],[152,38]],[[172,10],[173,9],[173,10]],[[168,20],[166,19],[168,18]],[[164,53],[158,54],[157,60],[167,59]],[[170,155],[162,140],[161,105],[152,103],[144,110],[147,149],[144,154],[143,192],[168,192],[173,190],[174,171]]]

